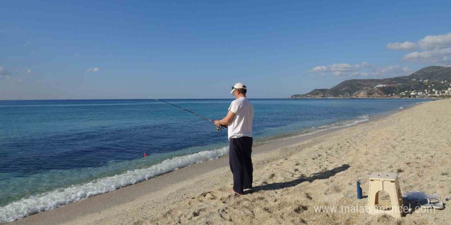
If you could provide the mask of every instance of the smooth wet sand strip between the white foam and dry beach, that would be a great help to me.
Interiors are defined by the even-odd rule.
[[[403,110],[415,107],[417,105],[418,104],[405,107]],[[386,114],[371,116],[367,121],[359,122],[350,126],[332,128],[308,134],[301,134],[299,137],[295,136],[289,138],[276,139],[268,143],[258,144],[253,147],[253,158],[256,155],[276,151],[285,147],[296,146],[305,141],[316,139],[325,136],[326,134],[339,132],[340,130],[343,129],[379,121],[398,113],[398,111],[399,110],[390,111],[387,112]],[[71,221],[71,219],[68,218],[73,218],[73,216],[78,217],[84,214],[99,213],[101,211],[108,210],[111,207],[122,205],[132,200],[135,200],[139,198],[141,195],[147,194],[148,192],[158,192],[164,188],[168,188],[171,185],[189,181],[190,179],[193,179],[195,176],[203,175],[218,169],[222,170],[228,169],[228,154],[222,155],[218,159],[208,160],[197,164],[191,164],[186,167],[176,169],[174,171],[160,174],[156,177],[148,179],[147,181],[142,181],[133,185],[128,185],[116,189],[114,191],[91,196],[86,199],[72,202],[71,204],[68,205],[60,206],[56,209],[39,212],[3,224],[61,224],[63,222]],[[146,191],[142,191],[143,189],[146,189]],[[131,192],[132,194],[128,192]],[[83,208],[83,210],[79,210],[80,208]],[[40,223],[39,221],[42,221],[42,223]]]

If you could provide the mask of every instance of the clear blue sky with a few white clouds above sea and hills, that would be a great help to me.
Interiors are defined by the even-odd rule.
[[[449,1],[7,1],[0,99],[284,98],[451,65]]]

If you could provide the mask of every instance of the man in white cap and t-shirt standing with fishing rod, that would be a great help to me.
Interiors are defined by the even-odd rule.
[[[217,127],[228,126],[229,165],[233,174],[233,191],[244,194],[244,189],[252,188],[252,120],[254,107],[246,97],[246,86],[236,83],[230,92],[235,96],[229,113],[222,120],[214,121]]]

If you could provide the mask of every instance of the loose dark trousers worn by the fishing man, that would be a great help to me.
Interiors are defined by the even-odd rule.
[[[233,190],[244,194],[243,189],[252,188],[252,138],[230,139],[229,165],[233,174]]]

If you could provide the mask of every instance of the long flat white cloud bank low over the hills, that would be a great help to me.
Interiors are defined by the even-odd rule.
[[[369,62],[361,62],[359,64],[349,63],[334,63],[331,65],[318,65],[315,66],[310,72],[314,74],[325,74],[333,76],[404,76],[412,73],[413,71],[407,66],[390,65],[390,66],[375,66]],[[318,73],[321,72],[321,73]]]

